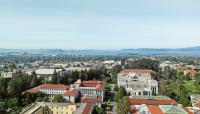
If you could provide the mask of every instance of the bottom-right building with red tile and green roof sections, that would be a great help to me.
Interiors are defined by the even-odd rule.
[[[130,97],[132,114],[188,114],[182,105],[165,96]]]

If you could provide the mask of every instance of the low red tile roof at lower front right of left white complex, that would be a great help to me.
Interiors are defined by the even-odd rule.
[[[98,103],[98,102],[102,102],[101,96],[97,96],[97,97],[94,97],[94,98],[83,97],[81,99],[81,103]]]

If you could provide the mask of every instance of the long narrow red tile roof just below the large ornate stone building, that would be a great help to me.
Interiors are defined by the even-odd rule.
[[[138,99],[138,98],[129,98],[129,103],[131,105],[172,105],[177,104],[174,100],[165,100],[165,99]]]

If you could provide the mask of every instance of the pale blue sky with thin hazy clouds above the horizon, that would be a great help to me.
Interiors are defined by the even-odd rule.
[[[200,0],[0,0],[0,48],[200,46]]]

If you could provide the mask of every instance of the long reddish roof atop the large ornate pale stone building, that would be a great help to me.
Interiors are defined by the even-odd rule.
[[[156,74],[153,70],[144,69],[124,69],[120,73],[146,73],[146,74]]]

